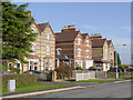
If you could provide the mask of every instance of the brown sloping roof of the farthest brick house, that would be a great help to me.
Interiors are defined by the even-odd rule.
[[[106,39],[93,39],[92,48],[102,48]]]

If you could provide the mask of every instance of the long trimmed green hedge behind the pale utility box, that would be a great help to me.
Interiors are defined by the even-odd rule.
[[[16,87],[37,84],[37,74],[2,74],[2,88],[8,88],[8,80],[16,80]]]

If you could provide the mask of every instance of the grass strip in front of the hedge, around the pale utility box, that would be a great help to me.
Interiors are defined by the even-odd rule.
[[[44,90],[44,89],[55,89],[55,88],[64,88],[64,87],[71,87],[71,86],[64,86],[64,84],[31,84],[25,87],[18,87],[16,89],[16,92],[28,92],[28,91],[35,91],[35,90]],[[8,94],[12,92],[8,92],[8,89],[2,89],[2,94]]]

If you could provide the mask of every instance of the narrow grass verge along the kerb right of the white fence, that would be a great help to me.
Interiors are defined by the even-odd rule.
[[[96,80],[96,79],[90,79],[90,80],[79,80],[76,82],[109,82],[109,81],[117,81],[120,79],[104,79],[104,80]]]

